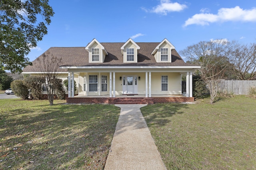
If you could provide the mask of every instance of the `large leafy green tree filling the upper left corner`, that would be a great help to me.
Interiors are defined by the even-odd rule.
[[[54,12],[48,0],[0,0],[0,67],[21,72],[28,55],[47,34]]]

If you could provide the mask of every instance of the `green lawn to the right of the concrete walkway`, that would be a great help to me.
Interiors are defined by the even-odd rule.
[[[256,100],[154,104],[142,114],[168,170],[256,169]]]

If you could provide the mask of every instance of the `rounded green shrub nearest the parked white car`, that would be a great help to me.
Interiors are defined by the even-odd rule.
[[[11,82],[12,91],[23,100],[28,99],[29,91],[28,87],[23,80],[14,80]]]

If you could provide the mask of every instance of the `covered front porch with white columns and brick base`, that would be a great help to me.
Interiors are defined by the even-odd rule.
[[[68,69],[68,103],[113,103],[120,98],[159,102],[191,102],[192,71],[186,69]],[[182,74],[186,91],[182,96]],[[74,80],[78,83],[75,95]],[[184,90],[183,90],[184,91]],[[74,98],[74,99],[72,99]],[[100,99],[99,99],[100,98]],[[188,98],[188,99],[185,99]],[[122,99],[124,100],[124,99]],[[78,102],[79,101],[79,102]],[[93,102],[94,101],[94,102]],[[147,102],[150,103],[150,102]],[[151,102],[152,103],[152,102]]]

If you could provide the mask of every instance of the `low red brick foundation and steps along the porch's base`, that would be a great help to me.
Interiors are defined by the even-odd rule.
[[[67,98],[67,103],[88,104],[154,104],[154,103],[179,103],[194,102],[194,97],[154,97],[154,98]]]

